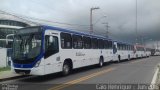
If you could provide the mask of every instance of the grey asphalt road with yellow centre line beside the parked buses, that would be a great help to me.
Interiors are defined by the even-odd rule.
[[[110,63],[102,68],[90,66],[76,69],[71,75],[65,77],[56,73],[19,78],[0,82],[0,84],[2,87],[18,88],[18,90],[107,90],[108,88],[109,90],[115,90],[115,88],[144,90],[146,87],[141,86],[151,83],[158,63],[160,63],[160,56],[154,56]]]

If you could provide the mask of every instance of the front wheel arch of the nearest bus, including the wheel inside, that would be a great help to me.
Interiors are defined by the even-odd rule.
[[[71,70],[73,69],[73,62],[71,59],[65,59],[62,67],[62,74],[64,76],[70,74]]]

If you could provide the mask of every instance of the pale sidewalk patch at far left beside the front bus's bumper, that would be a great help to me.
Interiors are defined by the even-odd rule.
[[[2,72],[0,72],[0,81],[14,79],[14,78],[17,78],[20,76],[22,76],[22,75],[14,74],[11,71],[2,71]]]

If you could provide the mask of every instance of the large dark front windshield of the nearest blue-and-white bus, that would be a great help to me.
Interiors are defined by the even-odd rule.
[[[40,33],[16,34],[13,41],[13,60],[34,60],[41,52],[41,40]]]

